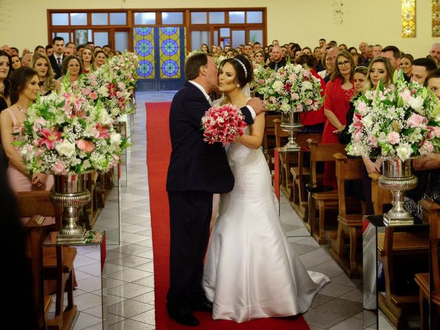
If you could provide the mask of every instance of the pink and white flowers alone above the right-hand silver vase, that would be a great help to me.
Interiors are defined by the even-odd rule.
[[[366,91],[355,102],[349,127],[349,155],[399,158],[440,151],[440,104],[437,97],[418,83],[403,78],[384,89]]]

